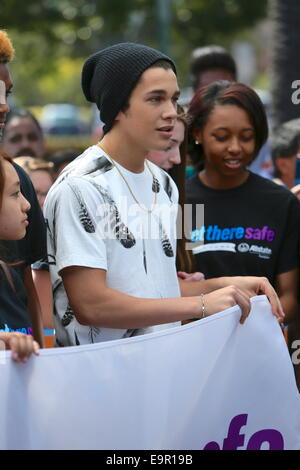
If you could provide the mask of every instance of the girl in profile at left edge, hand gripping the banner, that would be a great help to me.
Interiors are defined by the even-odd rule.
[[[0,154],[1,240],[20,240],[25,236],[29,209],[29,202],[20,192],[20,180],[11,159],[5,154]],[[0,323],[2,325],[0,341],[12,350],[14,360],[26,362],[32,352],[38,354],[39,346],[30,334],[23,334],[23,332],[30,333],[31,330],[31,326],[28,325],[28,314],[24,311],[22,303],[24,289],[17,285],[18,277],[14,275],[12,267],[4,261],[0,261],[0,266]],[[15,292],[14,304],[11,301],[12,290]],[[9,295],[5,294],[7,291],[10,291]]]

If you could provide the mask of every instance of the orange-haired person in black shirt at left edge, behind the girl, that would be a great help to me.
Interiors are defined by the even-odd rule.
[[[5,31],[0,30],[0,85],[1,85],[1,107],[0,107],[0,125],[1,130],[5,131],[5,123],[9,106],[7,104],[7,96],[11,93],[13,83],[9,73],[9,62],[13,59],[14,49],[12,43]],[[4,90],[4,95],[3,95]],[[31,209],[28,212],[29,226],[26,235],[21,240],[4,240],[2,246],[9,253],[9,262],[14,264],[16,275],[19,276],[20,285],[25,286],[27,294],[23,298],[25,304],[24,309],[28,311],[32,322],[34,338],[40,346],[43,345],[43,330],[41,321],[41,310],[38,301],[35,286],[32,280],[31,264],[35,261],[45,258],[46,250],[46,227],[43,214],[39,207],[37,197],[26,172],[13,163],[16,169],[20,183],[21,192],[29,201]],[[13,295],[8,291],[7,295]],[[28,307],[28,308],[27,308]]]

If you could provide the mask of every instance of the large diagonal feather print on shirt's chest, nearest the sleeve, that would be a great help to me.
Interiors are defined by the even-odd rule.
[[[97,189],[109,207],[110,226],[116,239],[124,246],[124,248],[132,248],[136,244],[135,238],[122,222],[115,201],[102,186],[95,183],[93,180],[89,180],[89,182]]]

